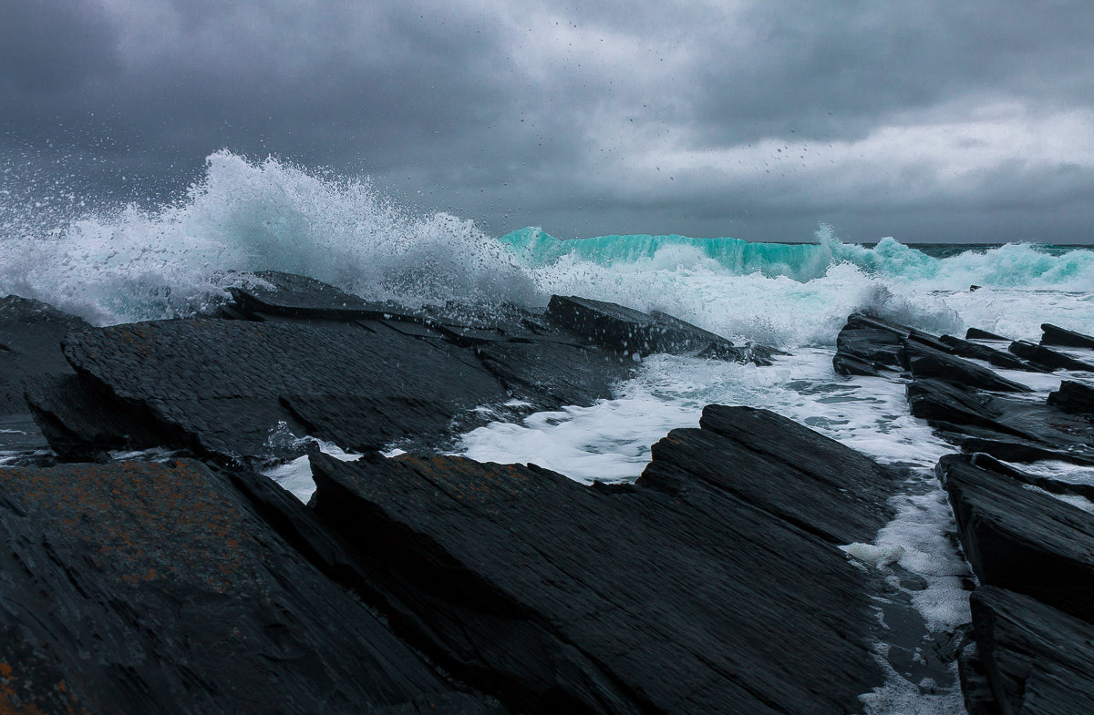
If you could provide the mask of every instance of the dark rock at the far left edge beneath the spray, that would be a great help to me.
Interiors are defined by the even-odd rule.
[[[23,380],[46,373],[72,374],[61,353],[69,330],[86,328],[75,316],[18,295],[0,300],[0,415],[27,412]]]

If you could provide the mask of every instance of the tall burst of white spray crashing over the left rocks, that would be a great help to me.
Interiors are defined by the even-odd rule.
[[[226,151],[174,203],[59,216],[8,201],[2,225],[0,293],[100,325],[194,314],[265,269],[409,305],[535,300],[515,259],[469,221],[416,214],[368,180]]]

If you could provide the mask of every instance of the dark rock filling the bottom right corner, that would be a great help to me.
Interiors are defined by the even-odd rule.
[[[1091,712],[1094,626],[1032,598],[991,586],[976,589],[970,602],[978,657],[985,664],[998,707],[994,712]]]

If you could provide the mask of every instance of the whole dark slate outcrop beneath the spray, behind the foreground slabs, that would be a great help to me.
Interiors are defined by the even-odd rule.
[[[222,318],[70,332],[65,368],[75,377],[44,377],[27,391],[54,449],[94,459],[108,448],[165,445],[255,464],[303,454],[304,435],[359,452],[426,448],[491,411],[515,415],[610,397],[635,368],[598,328],[560,326],[557,309],[407,310],[299,276],[257,278],[233,289]],[[616,331],[656,337],[647,352],[703,348],[759,363],[771,354],[733,348],[671,316],[582,304],[610,314]],[[591,332],[575,331],[585,328]]]

